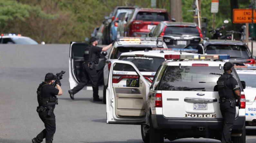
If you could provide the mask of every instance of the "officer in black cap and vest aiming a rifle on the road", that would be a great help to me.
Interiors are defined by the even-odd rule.
[[[52,143],[53,140],[53,135],[56,130],[53,110],[55,105],[58,104],[58,99],[55,95],[62,95],[60,80],[55,81],[57,89],[52,85],[53,82],[54,75],[48,73],[45,75],[44,82],[37,88],[37,101],[39,106],[36,111],[43,121],[45,129],[32,139],[33,143],[41,143],[44,138],[46,143]]]

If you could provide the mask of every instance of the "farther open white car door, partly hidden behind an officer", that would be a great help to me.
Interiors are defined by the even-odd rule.
[[[70,54],[69,54],[69,87],[73,89],[79,82],[81,82],[83,72],[83,61],[85,48],[89,46],[86,42],[71,42],[70,43]],[[102,56],[101,56],[102,58]],[[103,57],[104,58],[104,57]],[[103,83],[103,68],[105,65],[105,59],[100,59],[100,63],[96,66],[98,74],[98,83]],[[92,90],[91,82],[89,81],[87,86],[84,87],[86,90]],[[103,89],[103,86],[99,86],[99,90]]]

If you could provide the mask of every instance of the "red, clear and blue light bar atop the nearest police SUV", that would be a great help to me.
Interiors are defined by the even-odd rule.
[[[227,60],[229,59],[229,55],[165,55],[165,59],[177,59],[177,60]]]

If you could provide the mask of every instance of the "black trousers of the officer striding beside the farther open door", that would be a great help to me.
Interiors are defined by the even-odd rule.
[[[74,87],[72,91],[74,94],[77,93],[78,91],[83,89],[83,87],[90,80],[92,84],[93,98],[98,99],[99,85],[98,85],[97,71],[95,68],[90,69],[90,67],[88,67],[87,65],[84,65],[83,68],[84,68],[84,72],[81,73],[82,74],[81,82],[76,87]]]

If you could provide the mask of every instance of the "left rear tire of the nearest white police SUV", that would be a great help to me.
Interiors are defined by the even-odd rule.
[[[164,135],[161,130],[157,130],[153,128],[151,115],[149,117],[150,126],[149,126],[149,143],[163,143]]]

